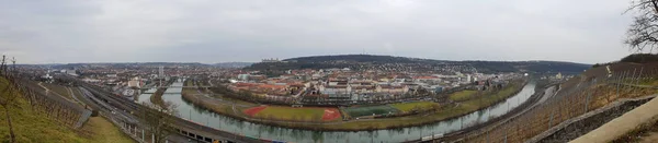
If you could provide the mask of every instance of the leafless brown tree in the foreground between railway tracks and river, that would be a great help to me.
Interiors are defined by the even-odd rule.
[[[155,142],[164,143],[167,136],[173,133],[171,124],[173,124],[177,105],[171,102],[164,102],[161,108],[158,105],[143,103],[148,108],[140,108],[138,114],[141,118],[141,124],[155,135]]]

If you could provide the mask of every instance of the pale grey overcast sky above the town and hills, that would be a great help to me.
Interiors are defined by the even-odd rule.
[[[21,63],[226,62],[370,53],[619,60],[629,0],[0,0]]]

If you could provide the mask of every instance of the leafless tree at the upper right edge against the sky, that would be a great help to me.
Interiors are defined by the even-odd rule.
[[[632,0],[626,12],[635,11],[633,24],[628,27],[627,39],[624,41],[631,49],[653,51],[658,46],[658,0]]]

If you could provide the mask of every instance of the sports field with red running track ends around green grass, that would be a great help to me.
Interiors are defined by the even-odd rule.
[[[242,110],[246,115],[275,120],[332,121],[340,119],[337,108],[259,106]]]

